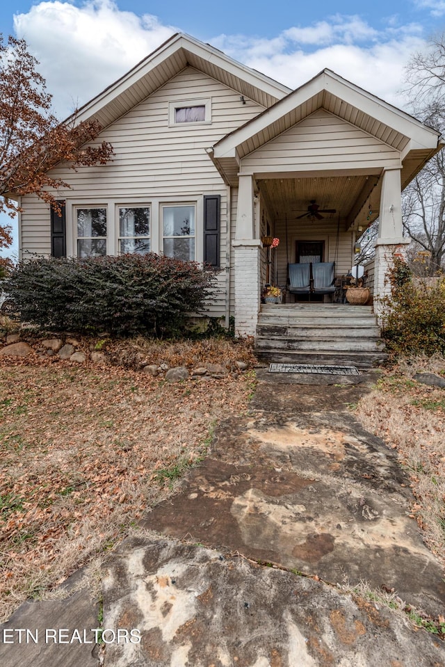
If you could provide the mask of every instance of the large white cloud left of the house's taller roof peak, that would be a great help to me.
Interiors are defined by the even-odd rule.
[[[176,32],[152,15],[124,12],[112,0],[76,7],[41,2],[14,17],[17,37],[40,61],[38,71],[64,117],[100,93]]]

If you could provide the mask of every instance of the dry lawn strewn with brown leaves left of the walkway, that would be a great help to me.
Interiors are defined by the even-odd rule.
[[[227,341],[137,341],[111,352],[127,366],[253,362],[248,346]],[[1,357],[1,620],[122,539],[251,391],[249,372],[172,385],[122,366]]]

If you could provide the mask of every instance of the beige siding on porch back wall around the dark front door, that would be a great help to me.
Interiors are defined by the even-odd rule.
[[[335,273],[343,275],[353,266],[353,234],[339,232],[337,248],[337,223],[325,220],[306,221],[302,223],[286,223],[284,220],[275,222],[275,236],[280,239],[276,252],[277,284],[284,286],[287,282],[287,262],[296,261],[296,241],[324,241],[325,262],[335,262]],[[286,252],[287,238],[287,252]]]

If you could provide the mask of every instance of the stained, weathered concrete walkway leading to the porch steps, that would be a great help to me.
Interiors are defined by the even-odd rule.
[[[1,665],[445,665],[444,643],[379,599],[394,589],[432,616],[445,609],[444,573],[408,516],[409,483],[348,410],[373,373],[258,376],[248,415],[219,424],[209,458],[145,517],[154,532],[109,558],[106,651],[44,641],[61,627],[92,638],[97,605],[81,590],[22,605],[3,627],[39,627],[42,641],[0,645]],[[377,599],[359,595],[365,584]]]

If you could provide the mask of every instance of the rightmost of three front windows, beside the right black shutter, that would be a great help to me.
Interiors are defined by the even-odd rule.
[[[163,205],[163,252],[168,257],[195,259],[195,204]]]

